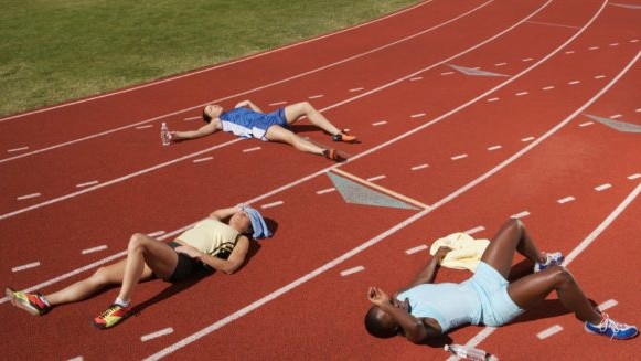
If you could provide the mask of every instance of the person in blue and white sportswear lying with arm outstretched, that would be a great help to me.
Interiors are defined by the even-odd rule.
[[[335,149],[323,149],[297,136],[289,129],[289,125],[303,116],[314,126],[331,134],[334,141],[356,141],[356,137],[350,136],[344,130],[336,128],[308,102],[288,105],[267,114],[263,113],[250,100],[241,102],[236,104],[234,109],[226,112],[220,105],[207,105],[203,110],[205,126],[191,131],[171,131],[170,135],[172,141],[180,141],[204,137],[223,130],[244,138],[280,141],[301,151],[324,156],[335,161],[342,160]]]

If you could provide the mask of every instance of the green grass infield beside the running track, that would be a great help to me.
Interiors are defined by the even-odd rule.
[[[0,116],[324,34],[417,0],[0,0]]]

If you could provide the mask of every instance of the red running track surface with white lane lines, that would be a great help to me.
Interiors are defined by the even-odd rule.
[[[263,210],[278,224],[276,235],[255,246],[239,273],[141,285],[139,315],[113,330],[89,321],[115,289],[42,318],[3,298],[2,354],[445,360],[439,348],[368,337],[366,288],[404,286],[427,259],[426,251],[406,249],[479,226],[474,236],[491,237],[515,214],[543,249],[570,255],[569,268],[596,302],[641,323],[641,138],[585,116],[641,125],[641,10],[621,3],[641,6],[428,1],[274,52],[0,119],[2,151],[11,150],[0,159],[0,274],[21,289],[47,293],[86,277],[119,258],[133,232],[173,235],[216,208],[282,202]],[[466,76],[449,64],[508,76]],[[243,98],[264,108],[309,98],[363,142],[342,146],[353,157],[338,166],[228,135],[160,146],[161,121],[192,128],[197,120],[183,119],[203,104]],[[320,131],[299,130],[328,142]],[[243,151],[254,147],[260,149]],[[421,164],[428,167],[413,170]],[[336,167],[363,179],[385,176],[376,183],[431,208],[318,194],[333,187],[325,172]],[[100,245],[107,248],[82,254]],[[357,266],[364,270],[341,276]],[[444,269],[439,280],[467,276]],[[563,330],[537,338],[553,326]],[[170,335],[141,339],[168,328]],[[502,360],[633,360],[641,352],[638,339],[585,333],[555,296],[493,332],[467,327],[449,337],[480,342]]]

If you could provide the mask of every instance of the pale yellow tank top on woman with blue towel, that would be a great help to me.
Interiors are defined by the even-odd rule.
[[[220,253],[228,255],[234,249],[238,235],[238,231],[227,224],[206,219],[196,223],[193,229],[183,232],[178,240],[210,256],[216,256]]]

